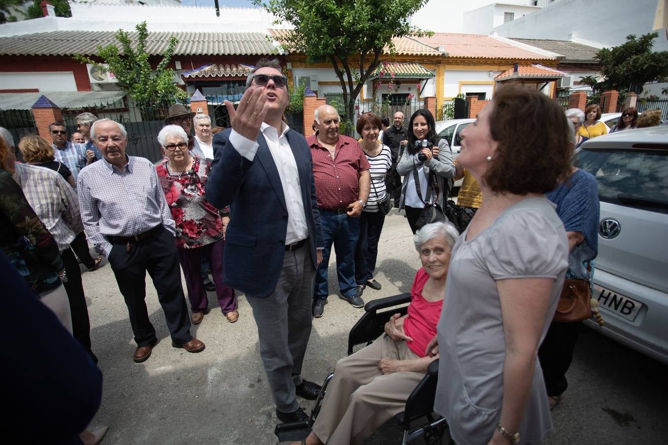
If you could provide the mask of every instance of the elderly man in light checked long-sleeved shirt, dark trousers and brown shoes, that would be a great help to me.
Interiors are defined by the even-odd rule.
[[[128,133],[111,119],[90,129],[102,160],[79,173],[81,219],[88,239],[112,266],[123,294],[137,342],[134,361],[144,362],[158,342],[146,308],[146,271],[172,334],[172,346],[188,352],[204,350],[190,335],[190,318],[181,286],[174,244],[176,225],[153,164],[125,153]]]

